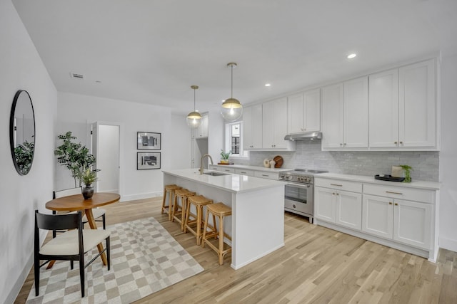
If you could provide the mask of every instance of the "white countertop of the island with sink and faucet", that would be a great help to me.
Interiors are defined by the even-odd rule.
[[[162,170],[165,174],[174,175],[193,182],[207,184],[211,187],[219,188],[229,192],[250,192],[258,189],[283,186],[284,182],[273,179],[261,179],[258,177],[248,177],[240,174],[226,174],[221,176],[211,176],[200,174],[199,169],[175,169]],[[211,172],[206,170],[205,172]]]

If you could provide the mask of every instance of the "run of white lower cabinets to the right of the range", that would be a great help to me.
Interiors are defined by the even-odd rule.
[[[340,178],[314,178],[315,224],[436,261],[437,183],[390,186]]]

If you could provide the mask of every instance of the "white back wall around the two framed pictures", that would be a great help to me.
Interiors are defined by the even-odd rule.
[[[81,141],[87,142],[87,124],[96,121],[121,124],[121,200],[143,199],[161,196],[163,192],[161,169],[176,166],[189,167],[190,131],[184,117],[171,115],[169,108],[124,100],[59,92],[56,135],[74,132]],[[161,133],[161,169],[137,170],[136,132]],[[56,189],[73,187],[68,169],[56,169]],[[65,177],[62,177],[66,174]]]

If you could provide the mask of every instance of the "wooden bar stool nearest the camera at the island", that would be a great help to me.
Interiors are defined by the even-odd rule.
[[[214,227],[210,227],[211,231],[206,231],[208,229],[208,220],[209,220],[209,214],[213,215],[213,224]],[[216,221],[214,220],[214,217],[217,216],[219,218],[219,231],[217,231],[217,226],[216,226]],[[205,243],[208,244],[211,248],[213,248],[214,251],[219,256],[219,265],[224,264],[224,256],[226,253],[231,252],[231,247],[227,245],[226,249],[224,249],[224,236],[231,241],[231,237],[228,236],[227,234],[224,233],[224,217],[225,216],[231,216],[231,208],[229,206],[226,206],[224,203],[217,203],[217,204],[209,204],[206,206],[206,219],[205,219],[205,226],[203,229],[203,236],[201,239],[201,246],[204,248]],[[219,248],[214,246],[209,239],[211,238],[218,238],[219,237]]]

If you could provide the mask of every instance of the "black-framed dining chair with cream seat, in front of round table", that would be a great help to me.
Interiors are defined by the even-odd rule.
[[[40,247],[39,229],[67,230]],[[69,230],[72,229],[72,230]],[[35,210],[35,241],[34,241],[34,272],[35,295],[39,295],[40,268],[50,261],[64,260],[79,261],[79,276],[81,279],[81,296],[84,297],[84,269],[106,251],[107,266],[110,268],[109,230],[83,229],[82,212],[76,214],[41,214]],[[89,263],[84,263],[84,254],[106,240],[106,246]],[[40,264],[41,260],[45,260]]]

